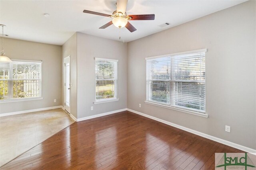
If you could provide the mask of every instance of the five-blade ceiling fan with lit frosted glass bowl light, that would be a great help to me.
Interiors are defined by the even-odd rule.
[[[126,27],[130,32],[133,32],[133,31],[136,31],[137,29],[134,26],[132,26],[132,24],[128,22],[128,20],[154,20],[155,19],[155,14],[127,15],[126,14],[127,1],[128,0],[117,0],[116,11],[114,11],[112,15],[102,14],[99,12],[93,12],[88,10],[84,10],[83,12],[88,14],[94,14],[98,16],[113,18],[112,21],[106,23],[99,29],[105,29],[106,27],[114,24],[118,28]]]

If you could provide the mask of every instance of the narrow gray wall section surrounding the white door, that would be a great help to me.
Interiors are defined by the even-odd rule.
[[[65,67],[64,67],[64,58],[70,55],[70,78],[71,84],[71,96],[70,96],[70,112],[74,117],[77,118],[77,34],[75,33],[62,45],[62,84],[61,84],[61,98],[62,106],[64,107],[64,82],[65,82]]]

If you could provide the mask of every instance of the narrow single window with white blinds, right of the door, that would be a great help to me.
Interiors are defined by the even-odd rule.
[[[97,102],[116,101],[117,63],[114,59],[95,58],[95,96]]]

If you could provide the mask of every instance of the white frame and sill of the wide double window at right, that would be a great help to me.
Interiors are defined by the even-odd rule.
[[[178,56],[178,55],[188,55],[188,54],[192,54],[192,53],[201,53],[201,52],[207,52],[207,49],[199,49],[199,50],[193,50],[193,51],[186,51],[186,52],[181,52],[181,53],[173,53],[173,54],[168,54],[168,55],[160,55],[160,56],[154,56],[154,57],[146,57],[145,60],[149,60],[149,59],[157,59],[157,58],[164,58],[164,57],[170,57],[170,59],[172,60],[172,57],[173,56]],[[147,66],[147,64],[146,64]],[[153,105],[153,106],[159,106],[159,107],[164,107],[164,108],[168,108],[168,109],[173,109],[173,110],[176,110],[176,111],[181,111],[181,112],[184,112],[184,113],[190,113],[190,114],[193,114],[193,115],[198,115],[198,116],[201,116],[201,117],[208,117],[208,114],[206,113],[206,103],[205,103],[205,111],[197,111],[197,110],[193,110],[193,109],[186,109],[184,107],[178,107],[178,106],[172,106],[171,105],[171,97],[169,97],[169,104],[164,104],[164,103],[161,103],[161,102],[156,102],[156,101],[152,101],[152,100],[148,100],[149,96],[148,95],[152,95],[151,93],[148,94],[148,88],[150,88],[148,85],[149,85],[149,82],[150,80],[148,80],[148,72],[146,71],[146,101],[145,104],[150,104],[150,105]],[[163,81],[163,80],[159,80],[159,81]],[[185,80],[186,81],[186,80]],[[177,82],[176,80],[168,80],[168,82],[173,83],[173,82]],[[178,80],[179,82],[179,80]],[[170,85],[170,88],[172,86]],[[205,78],[205,82],[204,82],[204,88],[206,88],[206,78]],[[205,90],[206,92],[206,90]],[[205,93],[205,101],[206,101],[206,93]]]

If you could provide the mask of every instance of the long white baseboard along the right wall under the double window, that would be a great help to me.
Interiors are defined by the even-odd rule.
[[[187,132],[190,132],[190,133],[193,133],[195,135],[198,135],[198,136],[201,136],[201,137],[204,137],[204,138],[207,138],[207,139],[210,139],[212,141],[216,141],[218,143],[222,143],[224,145],[228,145],[230,147],[233,147],[233,148],[236,148],[236,149],[239,149],[239,150],[243,150],[245,152],[248,152],[248,153],[252,153],[252,154],[256,154],[256,150],[255,149],[251,149],[251,148],[248,148],[248,147],[244,147],[242,145],[238,145],[236,143],[232,143],[230,141],[226,141],[224,139],[220,139],[220,138],[217,138],[217,137],[213,137],[211,135],[207,135],[205,133],[202,133],[202,132],[198,132],[198,131],[195,131],[193,129],[189,129],[187,127],[184,127],[184,126],[180,126],[180,125],[177,125],[177,124],[174,124],[174,123],[171,123],[169,121],[165,121],[165,120],[162,120],[162,119],[159,119],[157,117],[153,117],[153,116],[150,116],[150,115],[147,115],[147,114],[144,114],[144,113],[141,113],[141,112],[138,112],[138,111],[135,111],[135,110],[132,110],[132,109],[127,109],[128,111],[131,111],[133,113],[136,113],[138,115],[142,115],[144,117],[148,117],[150,119],[153,119],[153,120],[156,120],[156,121],[159,121],[161,123],[164,123],[166,125],[170,125],[170,126],[173,126],[173,127],[176,127],[178,129],[182,129],[184,131],[187,131]]]

